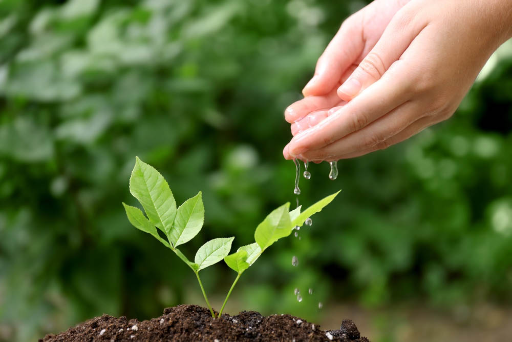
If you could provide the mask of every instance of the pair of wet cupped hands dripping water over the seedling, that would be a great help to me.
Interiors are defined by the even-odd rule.
[[[285,158],[357,157],[449,118],[510,36],[511,0],[375,0],[346,19],[285,110]]]

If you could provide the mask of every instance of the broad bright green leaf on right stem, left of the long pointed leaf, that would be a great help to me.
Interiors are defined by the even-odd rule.
[[[254,239],[262,251],[281,237],[291,234],[289,207],[290,203],[286,203],[275,209],[256,228]]]

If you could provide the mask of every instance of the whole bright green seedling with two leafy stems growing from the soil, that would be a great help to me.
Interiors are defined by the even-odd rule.
[[[303,212],[301,207],[289,211],[290,203],[286,203],[268,214],[258,225],[254,232],[254,243],[242,246],[236,253],[229,254],[234,237],[215,238],[199,248],[192,262],[177,247],[189,242],[203,227],[204,206],[201,192],[176,208],[176,200],[163,176],[138,157],[135,158],[135,167],[130,177],[130,192],[138,199],[147,215],[144,216],[139,208],[123,203],[130,223],[135,228],[153,235],[190,267],[196,274],[206,305],[214,318],[216,315],[204,291],[199,271],[224,259],[226,265],[237,272],[237,277],[219,311],[220,316],[242,273],[274,242],[290,235],[295,226],[302,226],[308,217],[321,211],[339,193],[338,191],[319,200]],[[160,236],[157,228],[167,239]]]

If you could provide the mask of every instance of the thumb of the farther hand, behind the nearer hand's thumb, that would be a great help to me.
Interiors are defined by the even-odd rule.
[[[343,73],[365,48],[360,21],[347,19],[318,58],[315,74],[306,84],[304,96],[323,95],[337,86]]]

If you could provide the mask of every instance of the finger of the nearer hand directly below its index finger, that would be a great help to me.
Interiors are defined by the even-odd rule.
[[[418,102],[406,102],[368,126],[340,138],[328,146],[305,152],[303,155],[311,160],[325,160],[333,156],[371,150],[374,146],[378,146],[409,127],[418,118],[425,116],[426,113],[422,112],[422,107],[424,106]]]

